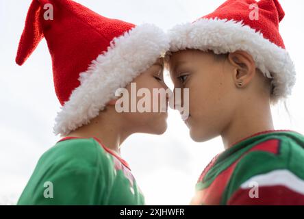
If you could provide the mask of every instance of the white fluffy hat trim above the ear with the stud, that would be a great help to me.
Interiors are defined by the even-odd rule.
[[[291,94],[296,71],[288,52],[242,21],[201,18],[194,23],[176,25],[168,37],[172,52],[184,49],[212,50],[216,54],[246,51],[264,76],[273,78],[273,103]]]

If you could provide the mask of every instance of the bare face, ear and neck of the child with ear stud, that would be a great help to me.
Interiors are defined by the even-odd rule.
[[[175,88],[189,88],[185,123],[192,140],[204,142],[221,136],[228,149],[253,133],[273,129],[270,79],[256,68],[248,53],[177,51],[170,55],[168,70]]]

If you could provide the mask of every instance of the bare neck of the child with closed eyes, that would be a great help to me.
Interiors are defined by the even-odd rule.
[[[96,118],[90,120],[88,125],[71,131],[66,137],[92,138],[96,137],[108,149],[120,155],[121,144],[131,133],[122,128],[118,115],[111,112],[102,112]]]

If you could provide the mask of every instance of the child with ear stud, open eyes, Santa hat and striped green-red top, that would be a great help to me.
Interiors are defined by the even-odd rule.
[[[170,76],[189,89],[190,136],[221,136],[226,149],[203,170],[192,205],[304,204],[304,137],[273,130],[270,113],[295,81],[283,16],[277,0],[228,0],[169,32]]]

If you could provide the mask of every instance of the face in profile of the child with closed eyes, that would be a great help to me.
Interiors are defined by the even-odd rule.
[[[166,83],[164,83],[163,72],[163,59],[158,59],[125,88],[128,93],[129,104],[128,112],[123,112],[122,118],[130,129],[134,129],[129,131],[151,134],[162,134],[166,131],[168,95],[164,94],[164,99],[162,99],[160,94],[153,93],[153,90],[168,89]],[[131,112],[131,107],[134,107],[136,112]],[[144,112],[140,112],[140,110],[144,110]]]

